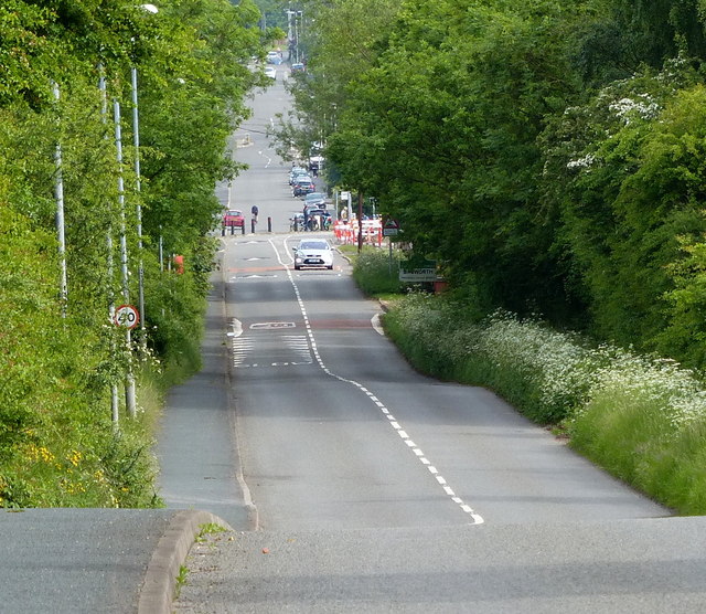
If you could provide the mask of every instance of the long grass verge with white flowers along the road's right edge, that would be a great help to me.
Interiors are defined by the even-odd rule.
[[[538,320],[410,295],[384,324],[408,360],[441,379],[483,385],[570,445],[685,515],[706,514],[706,390],[673,361],[591,346]]]

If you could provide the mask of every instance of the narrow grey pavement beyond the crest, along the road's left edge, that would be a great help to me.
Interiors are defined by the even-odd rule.
[[[220,258],[218,258],[220,260]],[[207,297],[203,367],[170,390],[162,413],[156,454],[159,494],[167,507],[206,510],[236,529],[257,526],[257,510],[240,475],[235,409],[225,343],[229,330],[225,272],[212,275]]]

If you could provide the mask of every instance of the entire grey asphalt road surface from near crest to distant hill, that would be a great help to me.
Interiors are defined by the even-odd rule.
[[[293,269],[300,203],[256,131],[286,105],[280,81],[255,97],[236,151],[250,168],[220,192],[260,211],[255,234],[223,239],[210,305],[227,399],[197,445],[174,421],[168,447],[190,451],[192,477],[163,468],[176,504],[236,530],[192,549],[174,610],[705,611],[703,518],[671,517],[492,393],[416,373],[344,258]]]

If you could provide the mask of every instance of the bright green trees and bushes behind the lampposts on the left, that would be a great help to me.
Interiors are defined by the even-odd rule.
[[[150,433],[130,421],[116,428],[111,390],[142,363],[161,363],[170,381],[200,367],[214,187],[238,171],[227,138],[248,114],[248,91],[266,83],[248,63],[268,32],[255,28],[252,0],[147,8],[0,7],[0,505],[152,505]],[[145,328],[126,347],[110,305],[137,303],[138,261]]]

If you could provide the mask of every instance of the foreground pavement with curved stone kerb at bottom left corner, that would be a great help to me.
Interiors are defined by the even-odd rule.
[[[207,523],[229,528],[196,510],[3,510],[0,612],[168,614]]]

